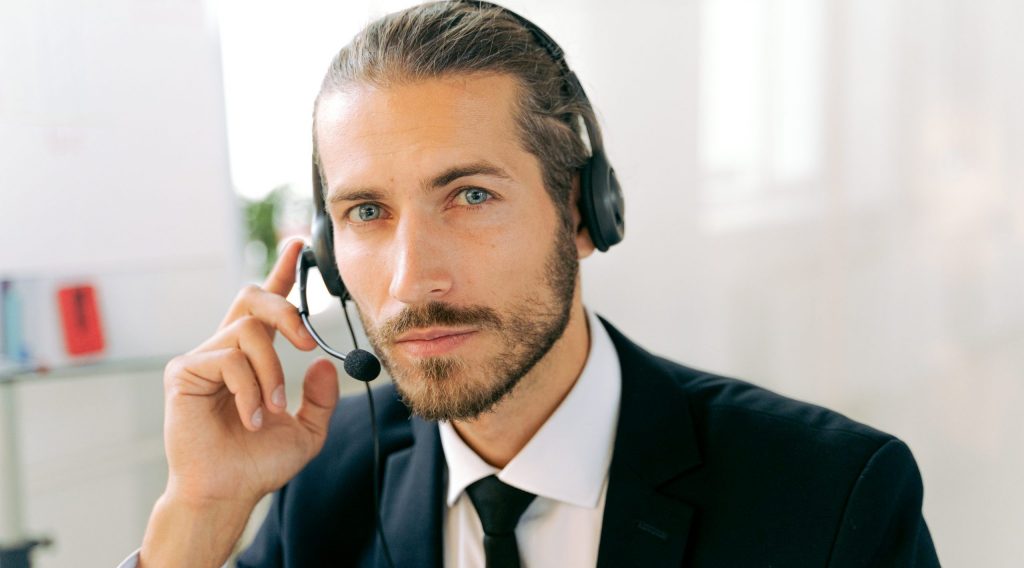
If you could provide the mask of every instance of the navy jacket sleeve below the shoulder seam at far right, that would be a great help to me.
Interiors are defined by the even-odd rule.
[[[883,444],[853,486],[828,566],[939,566],[923,495],[910,448],[897,439]]]

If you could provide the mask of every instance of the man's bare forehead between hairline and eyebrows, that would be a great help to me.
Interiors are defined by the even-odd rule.
[[[321,99],[316,140],[328,192],[339,185],[426,176],[485,161],[512,173],[537,167],[515,123],[508,75],[455,75],[386,88],[353,85]],[[520,172],[526,175],[526,172]]]

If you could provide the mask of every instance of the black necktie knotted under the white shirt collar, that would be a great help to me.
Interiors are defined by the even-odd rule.
[[[487,568],[519,568],[515,525],[537,495],[506,485],[493,475],[466,487],[466,492],[483,525]]]

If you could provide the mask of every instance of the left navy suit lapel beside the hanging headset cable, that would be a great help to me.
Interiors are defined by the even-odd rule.
[[[413,417],[413,445],[384,468],[381,522],[395,566],[439,568],[444,456],[437,425]],[[386,567],[378,535],[375,566]]]

